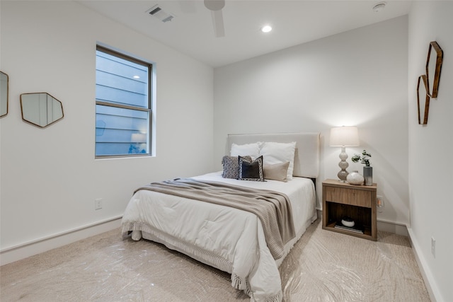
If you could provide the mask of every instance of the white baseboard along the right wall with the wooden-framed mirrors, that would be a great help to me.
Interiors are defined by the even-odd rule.
[[[428,290],[428,294],[430,294],[430,299],[432,302],[442,302],[442,295],[440,294],[439,289],[435,284],[435,280],[432,277],[431,270],[428,267],[428,264],[423,257],[423,253],[420,250],[420,245],[418,244],[417,240],[415,240],[415,235],[412,231],[412,228],[408,227],[409,233],[409,240],[411,241],[412,251],[415,256],[415,260],[418,264],[418,269],[420,269],[420,273],[422,274],[423,281],[425,281],[426,289]]]

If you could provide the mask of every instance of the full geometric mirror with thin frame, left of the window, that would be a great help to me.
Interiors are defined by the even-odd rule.
[[[62,102],[49,93],[21,94],[22,120],[44,128],[63,118]]]

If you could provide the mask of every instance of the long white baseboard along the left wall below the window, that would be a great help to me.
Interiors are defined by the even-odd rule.
[[[122,216],[105,219],[86,226],[81,226],[72,230],[56,233],[52,236],[39,238],[37,240],[23,243],[20,245],[4,248],[0,251],[0,265],[6,265],[26,257],[30,257],[40,252],[46,252],[54,248],[59,248],[77,240],[104,233],[114,228],[120,228]]]

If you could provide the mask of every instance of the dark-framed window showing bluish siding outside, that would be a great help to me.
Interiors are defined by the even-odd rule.
[[[151,67],[96,47],[96,157],[149,155]]]

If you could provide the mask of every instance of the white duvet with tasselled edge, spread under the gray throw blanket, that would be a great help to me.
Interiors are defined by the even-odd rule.
[[[292,205],[296,237],[285,245],[285,255],[316,220],[314,184],[309,178],[288,182],[254,182],[222,178],[222,172],[194,177],[244,187],[275,190],[287,194]],[[123,233],[147,238],[231,273],[231,285],[251,301],[281,301],[278,267],[265,243],[255,214],[231,207],[139,190],[130,199],[122,218]]]

